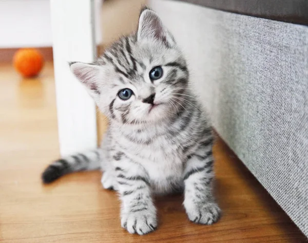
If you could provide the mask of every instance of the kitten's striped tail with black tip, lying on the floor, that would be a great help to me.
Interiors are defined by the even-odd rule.
[[[51,163],[43,172],[43,183],[48,184],[61,176],[81,170],[95,170],[100,168],[102,150],[96,149],[60,158]]]

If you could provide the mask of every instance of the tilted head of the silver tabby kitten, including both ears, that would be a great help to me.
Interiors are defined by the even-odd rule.
[[[141,11],[136,34],[117,40],[94,63],[73,62],[70,69],[100,110],[125,124],[166,119],[183,107],[186,97],[185,59],[149,9]]]

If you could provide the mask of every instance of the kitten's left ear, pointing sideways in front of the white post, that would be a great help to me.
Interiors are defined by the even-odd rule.
[[[100,66],[79,62],[69,63],[72,73],[84,84],[92,97],[100,94],[97,79],[100,76]]]

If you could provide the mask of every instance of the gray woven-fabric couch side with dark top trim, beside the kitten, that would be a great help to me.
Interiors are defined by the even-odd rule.
[[[227,2],[151,7],[186,51],[216,130],[308,236],[308,1]]]

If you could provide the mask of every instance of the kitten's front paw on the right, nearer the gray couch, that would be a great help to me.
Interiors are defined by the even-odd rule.
[[[196,224],[212,225],[220,218],[221,210],[214,202],[205,203],[196,205],[193,209],[187,211],[187,215],[189,220]]]

